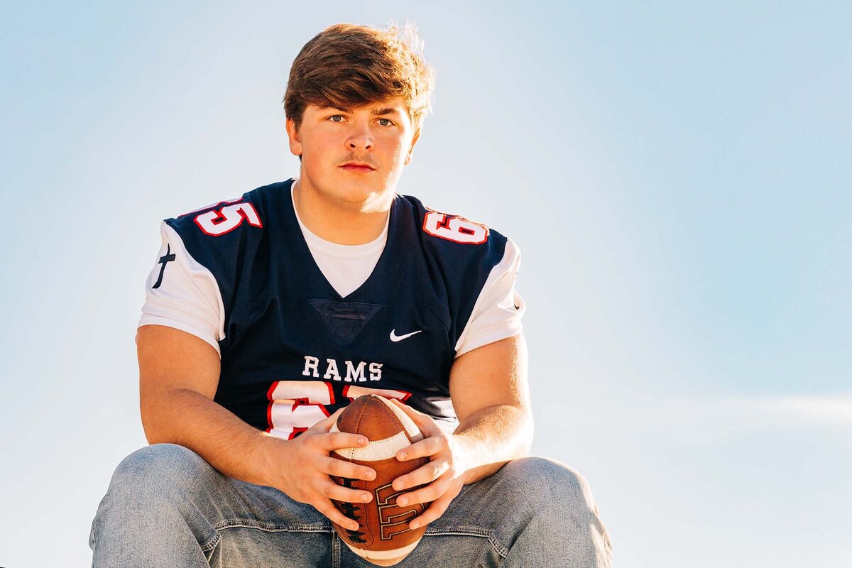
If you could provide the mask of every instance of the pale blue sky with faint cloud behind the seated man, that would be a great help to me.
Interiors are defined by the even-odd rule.
[[[398,189],[521,247],[533,450],[616,565],[852,565],[849,4],[376,1],[0,9],[0,565],[89,565],[145,444],[158,222],[294,175],[298,49],[406,18],[437,89]]]

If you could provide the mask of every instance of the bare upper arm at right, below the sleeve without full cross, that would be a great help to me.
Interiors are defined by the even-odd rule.
[[[519,333],[459,356],[450,370],[450,397],[459,422],[499,404],[529,412],[524,336]]]

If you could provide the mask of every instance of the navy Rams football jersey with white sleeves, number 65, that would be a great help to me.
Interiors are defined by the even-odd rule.
[[[460,349],[521,329],[514,244],[397,195],[375,267],[343,297],[314,261],[292,183],[164,221],[140,325],[211,342],[222,358],[214,400],[281,438],[364,393],[452,422],[449,376]]]

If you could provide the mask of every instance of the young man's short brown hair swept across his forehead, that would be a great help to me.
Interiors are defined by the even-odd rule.
[[[305,43],[290,70],[284,112],[296,129],[308,105],[354,108],[402,97],[415,130],[429,112],[435,72],[409,22],[388,30],[336,24]]]

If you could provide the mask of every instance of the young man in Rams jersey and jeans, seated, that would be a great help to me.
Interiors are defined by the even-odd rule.
[[[405,37],[409,40],[406,41]],[[413,38],[413,39],[412,39]],[[416,34],[331,26],[285,95],[299,177],[164,221],[137,344],[151,445],[113,475],[95,566],[362,566],[331,474],[365,444],[331,433],[363,393],[404,401],[427,436],[398,459],[400,506],[429,503],[400,566],[603,566],[588,485],[524,457],[519,253],[499,232],[396,193],[433,75]]]

